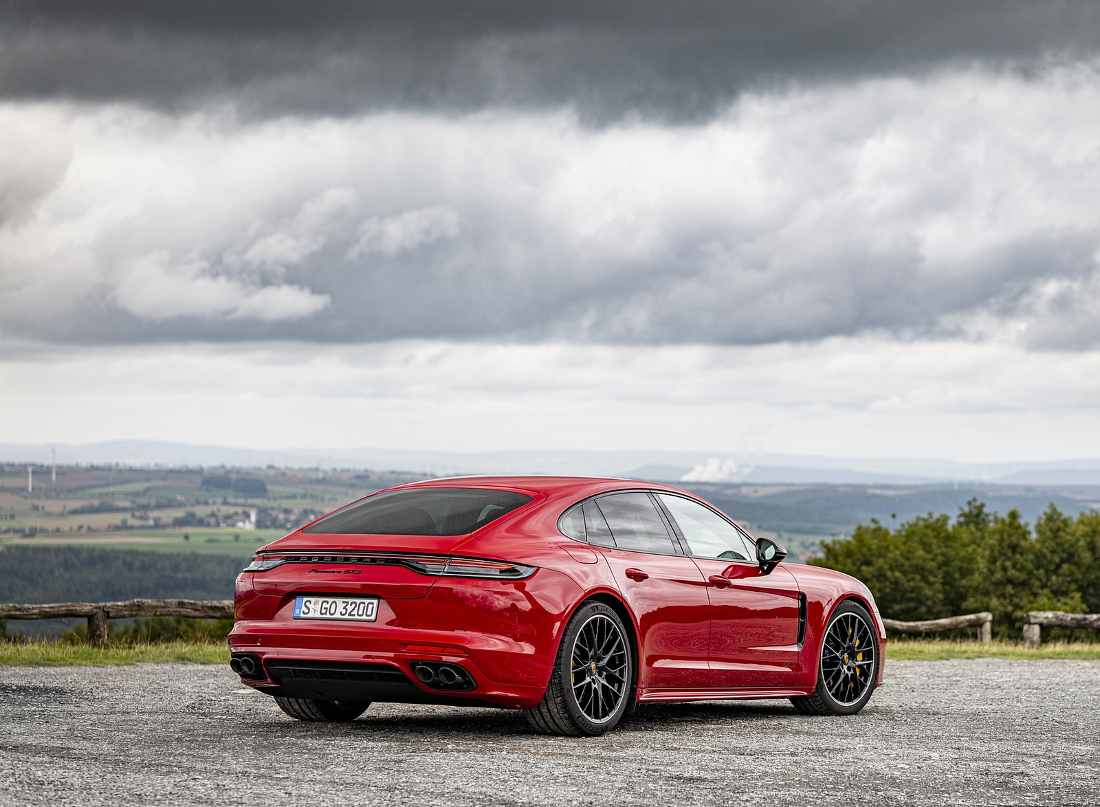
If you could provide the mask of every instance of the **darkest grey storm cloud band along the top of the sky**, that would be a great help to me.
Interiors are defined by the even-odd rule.
[[[697,121],[746,89],[1089,56],[1100,3],[9,1],[0,31],[9,99]]]

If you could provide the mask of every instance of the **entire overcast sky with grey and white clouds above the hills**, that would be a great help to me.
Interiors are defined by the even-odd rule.
[[[2,2],[0,442],[1100,456],[1100,3]]]

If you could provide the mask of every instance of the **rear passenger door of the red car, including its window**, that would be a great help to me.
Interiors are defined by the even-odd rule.
[[[584,502],[588,542],[603,546],[615,583],[638,618],[642,688],[701,687],[708,675],[711,605],[698,567],[678,553],[649,494]]]

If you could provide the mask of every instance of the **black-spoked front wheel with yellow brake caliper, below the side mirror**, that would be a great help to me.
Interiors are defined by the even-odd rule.
[[[813,695],[791,698],[791,703],[803,715],[855,715],[875,692],[879,663],[871,615],[858,603],[845,600],[833,611],[822,635],[817,687]]]

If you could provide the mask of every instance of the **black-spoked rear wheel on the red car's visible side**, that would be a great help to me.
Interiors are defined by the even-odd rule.
[[[629,633],[614,609],[590,601],[569,620],[547,694],[527,720],[543,734],[598,737],[623,719],[632,695]]]

